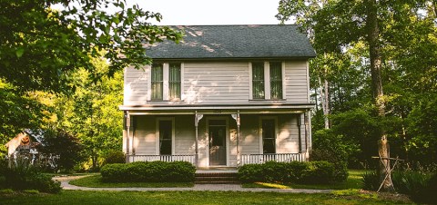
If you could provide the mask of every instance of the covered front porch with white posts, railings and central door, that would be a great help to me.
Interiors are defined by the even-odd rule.
[[[309,158],[308,104],[125,109],[127,162],[188,161],[215,169]]]

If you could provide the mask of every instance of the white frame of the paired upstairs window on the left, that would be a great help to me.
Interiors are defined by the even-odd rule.
[[[178,63],[178,62],[175,62]],[[149,102],[159,102],[159,101],[182,101],[182,93],[184,93],[184,63],[180,63],[180,99],[173,100],[169,99],[169,63],[162,63],[162,100],[153,100],[152,101],[152,67],[151,65],[147,65],[146,70],[148,73],[147,78],[147,101]]]

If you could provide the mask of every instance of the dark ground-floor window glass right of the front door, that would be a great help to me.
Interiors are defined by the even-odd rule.
[[[261,121],[262,129],[262,152],[276,153],[275,120],[264,119]]]

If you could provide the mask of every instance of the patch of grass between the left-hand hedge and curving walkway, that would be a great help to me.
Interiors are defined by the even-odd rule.
[[[193,187],[192,182],[159,182],[159,183],[147,183],[147,182],[103,182],[102,175],[92,175],[84,178],[80,178],[69,182],[72,185],[79,187],[147,187],[147,188],[161,188],[161,187]]]

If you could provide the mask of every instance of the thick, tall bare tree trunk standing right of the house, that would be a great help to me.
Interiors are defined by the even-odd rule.
[[[381,81],[381,54],[379,34],[380,29],[378,27],[378,5],[376,0],[368,1],[367,8],[367,28],[368,28],[368,42],[369,42],[369,54],[371,57],[371,90],[373,93],[373,100],[376,108],[378,109],[378,115],[381,119],[385,117],[385,105],[384,105],[384,93],[382,92]],[[380,163],[380,175],[383,191],[394,191],[393,184],[391,182],[390,171],[390,157],[389,143],[387,141],[387,135],[384,128],[381,128],[380,141],[378,142],[378,151],[381,157]],[[386,177],[387,176],[387,177]]]

